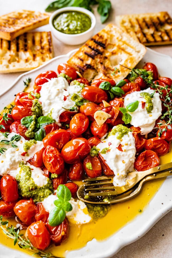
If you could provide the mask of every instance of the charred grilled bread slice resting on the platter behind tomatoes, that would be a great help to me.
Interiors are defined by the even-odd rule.
[[[68,61],[89,81],[111,78],[116,82],[130,72],[146,53],[146,47],[114,24],[108,24],[88,40]],[[121,66],[123,65],[123,66]]]

